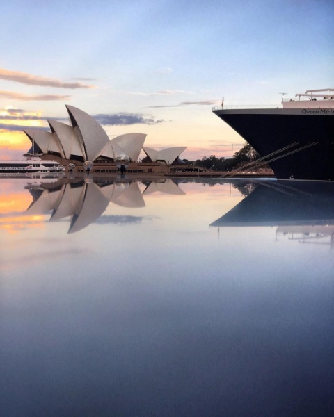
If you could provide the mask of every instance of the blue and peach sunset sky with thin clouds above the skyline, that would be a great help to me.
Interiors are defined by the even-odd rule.
[[[65,104],[110,139],[230,158],[244,140],[214,113],[334,88],[333,0],[12,0],[1,3],[0,159],[25,127],[67,122]]]

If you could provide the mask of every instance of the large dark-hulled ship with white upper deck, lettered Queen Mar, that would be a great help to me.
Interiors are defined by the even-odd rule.
[[[307,90],[282,106],[214,107],[278,179],[334,181],[334,89]]]

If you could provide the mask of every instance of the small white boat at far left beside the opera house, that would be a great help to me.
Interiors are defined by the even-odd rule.
[[[58,161],[42,160],[39,157],[31,156],[26,159],[0,161],[0,172],[6,174],[22,174],[30,172],[56,172]]]

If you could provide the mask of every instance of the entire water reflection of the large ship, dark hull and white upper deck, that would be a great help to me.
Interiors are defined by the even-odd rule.
[[[276,238],[300,243],[334,242],[334,186],[311,181],[240,181],[245,195],[237,206],[210,224],[213,227],[277,226]],[[329,238],[324,242],[324,238]]]

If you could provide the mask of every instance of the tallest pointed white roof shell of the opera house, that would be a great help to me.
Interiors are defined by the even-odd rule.
[[[73,128],[78,128],[84,145],[84,159],[95,161],[109,142],[102,126],[90,115],[73,106],[67,106]]]

